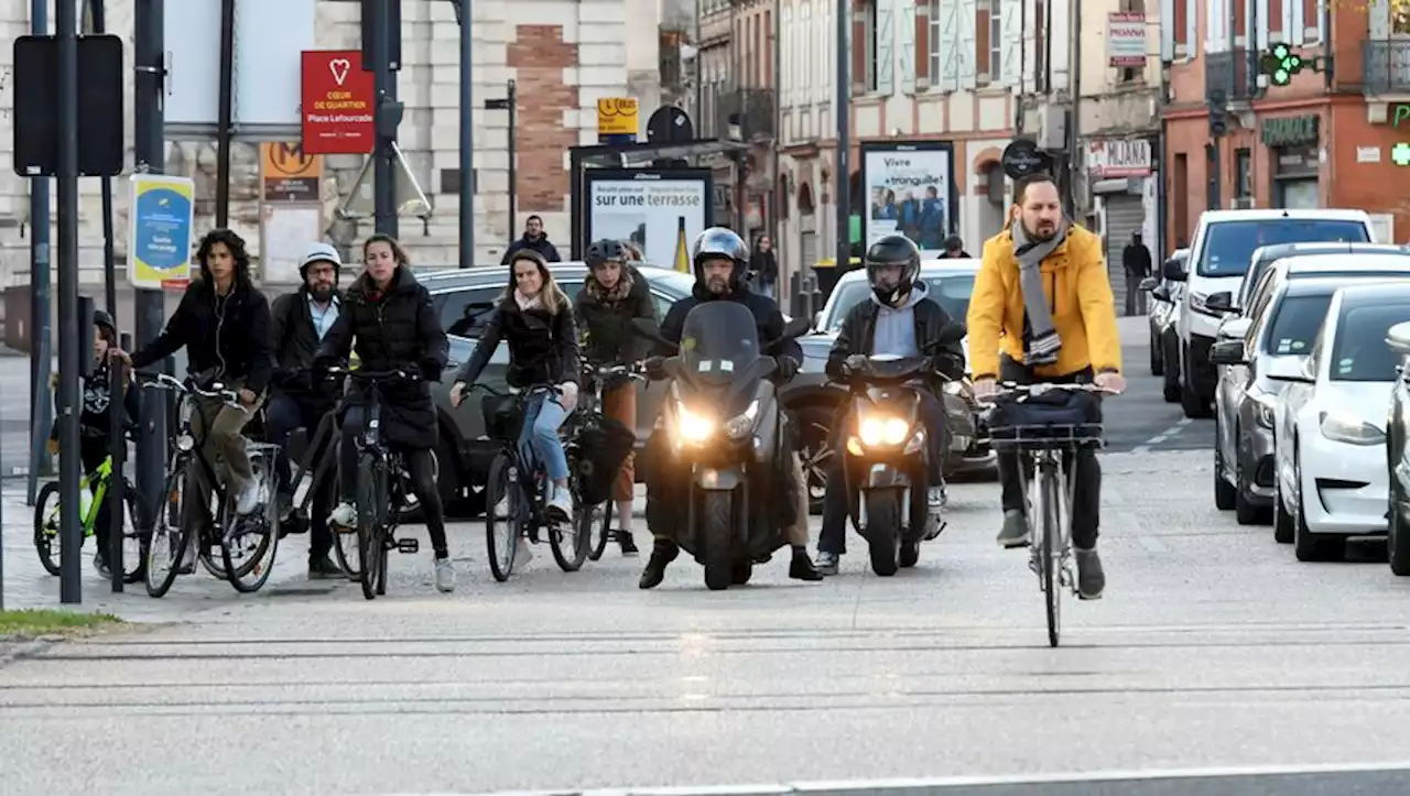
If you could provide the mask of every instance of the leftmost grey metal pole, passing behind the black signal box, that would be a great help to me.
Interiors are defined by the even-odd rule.
[[[49,4],[47,0],[30,0],[30,31],[34,35],[49,34]],[[49,341],[49,178],[30,179],[30,385],[34,396],[48,390]],[[41,345],[42,341],[42,345]],[[51,402],[30,403],[30,483],[27,503],[34,504],[39,490],[39,464],[44,461],[44,444],[49,435]]]

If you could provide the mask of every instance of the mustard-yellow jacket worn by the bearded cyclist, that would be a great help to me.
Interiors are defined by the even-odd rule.
[[[1024,361],[1024,292],[1012,232],[1004,230],[984,241],[983,258],[966,320],[970,372],[976,379],[997,378],[1000,349],[1017,362]],[[1058,362],[1038,366],[1036,375],[1066,376],[1089,366],[1098,373],[1120,372],[1117,307],[1101,238],[1074,224],[1067,240],[1039,268],[1062,348]]]

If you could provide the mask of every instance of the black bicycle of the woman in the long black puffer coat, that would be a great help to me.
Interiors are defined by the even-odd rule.
[[[400,521],[400,511],[392,511],[392,506],[402,506],[410,492],[409,476],[402,452],[392,449],[382,440],[382,385],[389,382],[417,382],[405,371],[348,371],[333,368],[331,376],[345,376],[354,382],[361,382],[369,387],[368,402],[364,404],[362,433],[357,435],[357,540],[361,569],[357,573],[362,585],[362,596],[375,600],[386,595],[386,554],[396,548],[402,554],[415,554],[420,544],[412,538],[396,538],[396,527]],[[433,459],[434,461],[434,459]],[[391,478],[396,473],[398,478]],[[344,528],[334,531],[334,547],[341,547],[338,537],[347,535]],[[340,561],[343,552],[338,552]]]

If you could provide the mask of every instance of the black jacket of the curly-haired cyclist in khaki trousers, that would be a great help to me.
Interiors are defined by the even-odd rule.
[[[245,389],[262,393],[274,366],[269,359],[269,301],[250,285],[235,282],[226,296],[197,279],[186,287],[176,311],[157,340],[133,354],[133,368],[186,348],[192,373],[209,373],[223,380],[243,380]]]

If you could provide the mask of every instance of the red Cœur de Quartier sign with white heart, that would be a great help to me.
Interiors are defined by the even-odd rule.
[[[306,155],[365,155],[376,138],[376,90],[357,49],[303,54],[302,134]]]

